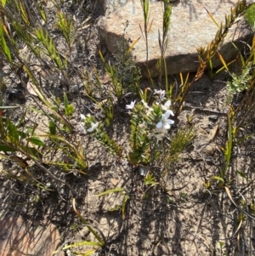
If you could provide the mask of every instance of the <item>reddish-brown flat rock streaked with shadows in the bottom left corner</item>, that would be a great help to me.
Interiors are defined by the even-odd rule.
[[[39,226],[21,217],[0,221],[1,256],[48,256],[58,248],[59,242],[59,231],[53,224]],[[64,252],[60,255],[64,256]]]

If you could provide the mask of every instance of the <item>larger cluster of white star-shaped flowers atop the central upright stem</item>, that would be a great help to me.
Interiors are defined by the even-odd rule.
[[[142,104],[144,109],[146,109],[145,116],[152,117],[154,120],[154,125],[150,128],[150,138],[156,138],[157,140],[162,140],[166,134],[167,130],[171,128],[171,125],[174,123],[171,116],[174,116],[173,111],[170,110],[171,100],[167,100],[162,104],[163,100],[166,100],[166,92],[164,90],[155,90],[156,94],[156,104],[150,107],[144,100]],[[126,105],[127,110],[132,110],[135,106],[135,101],[132,101],[130,105]]]

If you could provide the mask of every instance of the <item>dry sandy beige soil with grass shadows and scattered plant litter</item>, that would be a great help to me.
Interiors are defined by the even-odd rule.
[[[77,31],[77,41],[69,54],[66,53],[63,37],[53,26],[55,10],[50,3],[48,2],[47,7],[49,21],[45,28],[54,35],[54,42],[57,43],[60,52],[69,57],[74,68],[67,71],[66,77],[69,81],[66,82],[56,78],[57,71],[48,70],[51,74],[45,75],[43,72],[47,68],[37,63],[37,60],[31,59],[30,63],[33,63],[35,68],[40,67],[37,76],[41,77],[43,91],[48,97],[51,97],[49,92],[59,97],[62,97],[63,91],[68,94],[69,100],[77,110],[75,117],[70,120],[75,128],[78,127],[81,113],[85,115],[93,112],[95,117],[102,120],[103,113],[88,99],[84,87],[75,90],[75,86],[82,83],[75,69],[91,72],[95,81],[96,67],[105,92],[111,88],[110,79],[105,75],[99,59],[98,48],[103,48],[106,60],[114,61],[114,58],[104,46],[99,45],[95,26],[103,11],[90,1],[82,1],[82,4],[61,3],[61,9],[76,17],[78,28],[85,26],[84,20],[88,16],[91,17],[88,27]],[[24,51],[26,53],[26,49]],[[7,70],[3,69],[3,72]],[[236,70],[235,66],[233,70]],[[17,78],[11,78],[10,75],[8,81],[11,82],[8,82],[6,97],[14,92],[14,89],[20,89],[20,94],[26,99],[25,105],[37,107],[37,97],[29,94],[25,88],[19,88],[20,81]],[[180,85],[178,76],[169,79]],[[43,173],[37,166],[30,169],[31,174],[36,175],[42,184],[49,183],[52,191],[25,183],[22,181],[24,179],[19,177],[28,174],[20,170],[14,162],[2,160],[0,219],[21,215],[23,218],[36,219],[42,223],[49,221],[57,225],[63,245],[79,241],[96,241],[88,231],[88,226],[83,225],[74,212],[72,202],[75,197],[77,210],[82,217],[105,237],[105,247],[100,248],[94,255],[254,255],[254,218],[244,218],[239,226],[241,210],[231,202],[224,187],[219,187],[216,181],[211,188],[207,189],[206,186],[212,176],[218,175],[218,168],[222,167],[224,162],[222,149],[228,136],[229,111],[227,79],[229,75],[224,72],[212,80],[205,73],[191,88],[183,110],[171,129],[170,137],[181,128],[194,127],[193,143],[180,154],[178,162],[169,163],[169,166],[164,167],[150,167],[150,173],[154,174],[157,180],[161,180],[165,189],[160,185],[145,185],[144,176],[140,174],[139,168],[126,165],[125,162],[111,156],[92,136],[77,133],[77,140],[71,141],[78,142],[85,151],[89,167],[86,175],[75,170],[65,173],[59,167],[50,168],[49,165],[44,165],[52,174],[70,184],[77,195],[63,183]],[[150,86],[146,80],[142,81],[142,84],[144,88]],[[239,102],[237,98],[236,104]],[[12,103],[12,99],[8,97],[9,104]],[[122,105],[129,104],[131,100],[130,97],[123,99]],[[118,109],[115,110],[115,114],[113,126],[108,132],[119,145],[128,150],[130,116],[126,111]],[[19,115],[19,110],[12,111],[13,120],[17,121]],[[40,129],[45,129],[44,121],[38,118],[36,112],[28,111],[26,125],[36,122]],[[243,134],[248,133],[247,129],[252,130],[252,121],[251,115],[250,126],[243,129]],[[232,180],[228,187],[233,201],[239,205],[242,200],[248,202],[246,211],[249,211],[249,206],[254,203],[253,151],[252,138],[244,142],[241,148],[235,146],[227,175],[227,179]],[[64,156],[60,155],[59,151],[56,151],[54,156],[48,155],[48,159],[58,158],[64,162],[65,159],[61,157]],[[15,177],[18,179],[6,179],[7,170],[11,170],[12,174],[16,172]],[[165,170],[167,174],[162,177],[161,174]],[[241,171],[243,177],[236,174],[236,171]],[[116,187],[122,187],[125,193],[98,196],[99,193]],[[123,213],[122,203],[125,198],[128,200]],[[74,251],[81,252],[82,247],[75,248]]]

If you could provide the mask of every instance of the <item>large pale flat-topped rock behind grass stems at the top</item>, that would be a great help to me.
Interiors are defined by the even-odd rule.
[[[229,14],[230,9],[235,7],[235,3],[237,2],[237,0],[178,0],[173,3],[171,24],[167,37],[168,46],[166,50],[168,74],[197,70],[198,59],[196,49],[206,47],[207,43],[212,41],[218,31],[218,26],[212,22],[207,14],[207,10],[212,14],[218,24],[220,24],[225,20],[225,14]],[[130,42],[134,42],[139,38],[139,42],[136,43],[133,48],[133,56],[135,57],[134,60],[141,67],[142,74],[146,76],[146,48],[143,33],[141,32],[141,28],[144,30],[144,16],[140,0],[105,0],[105,4],[106,3],[108,3],[108,6],[111,5],[111,8],[108,8],[106,16],[101,17],[98,22],[101,40],[106,44],[106,47],[111,53],[116,53],[116,46],[122,41],[124,31],[123,23],[128,20],[125,39],[130,44]],[[119,3],[119,6],[116,3]],[[107,9],[106,5],[105,8]],[[150,1],[150,22],[151,21],[152,26],[148,35],[148,66],[151,76],[157,77],[159,73],[156,69],[156,63],[161,56],[158,43],[158,31],[162,31],[161,1]],[[241,27],[240,22],[236,22],[235,26],[229,30],[224,39],[224,43],[219,48],[219,52],[223,55],[226,62],[236,57],[236,50],[232,45],[232,40],[234,39],[234,42],[240,40],[245,41],[247,37],[252,36],[252,31],[245,29],[243,26]],[[220,60],[215,58],[213,66],[218,67],[221,65]]]

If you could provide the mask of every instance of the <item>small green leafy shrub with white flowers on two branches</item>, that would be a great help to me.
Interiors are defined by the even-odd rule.
[[[82,123],[80,123],[78,130],[83,134],[94,134],[96,139],[116,156],[124,157],[133,164],[147,165],[152,160],[151,151],[158,145],[159,141],[166,137],[168,130],[174,123],[170,119],[174,114],[170,110],[171,100],[165,98],[166,92],[164,90],[155,90],[154,95],[156,100],[151,107],[144,100],[137,104],[134,100],[129,105],[126,105],[126,109],[131,114],[131,133],[129,138],[131,151],[127,156],[122,156],[122,148],[108,137],[103,124],[99,124],[93,116],[88,115],[85,117],[81,115]]]

